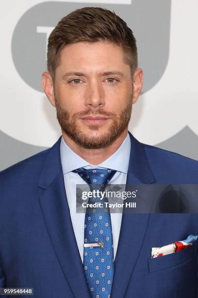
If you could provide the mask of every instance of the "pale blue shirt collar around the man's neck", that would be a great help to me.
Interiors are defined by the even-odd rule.
[[[129,133],[120,145],[120,147],[105,161],[99,165],[92,165],[73,150],[71,150],[66,144],[63,136],[60,144],[61,164],[63,173],[73,171],[76,168],[111,168],[119,172],[127,173],[129,167],[129,158],[131,151],[131,140]]]

